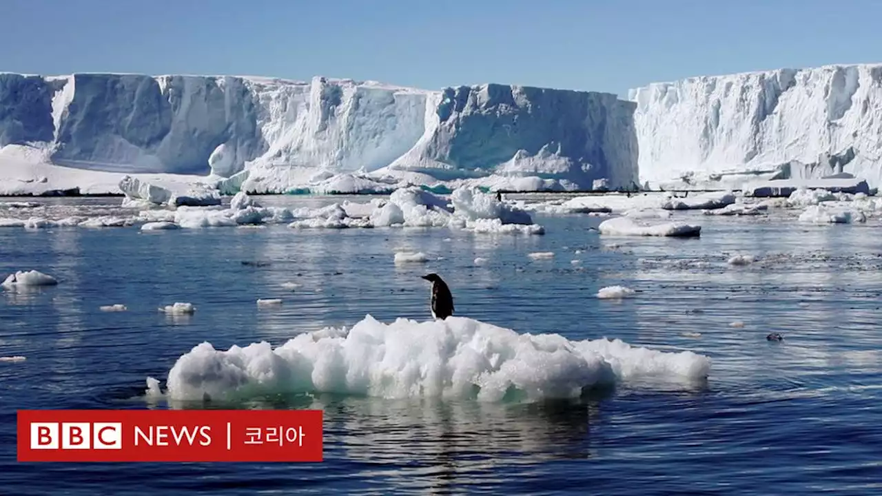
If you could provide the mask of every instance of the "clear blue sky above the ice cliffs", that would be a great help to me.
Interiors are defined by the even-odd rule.
[[[0,71],[608,91],[882,62],[882,0],[0,0]]]

